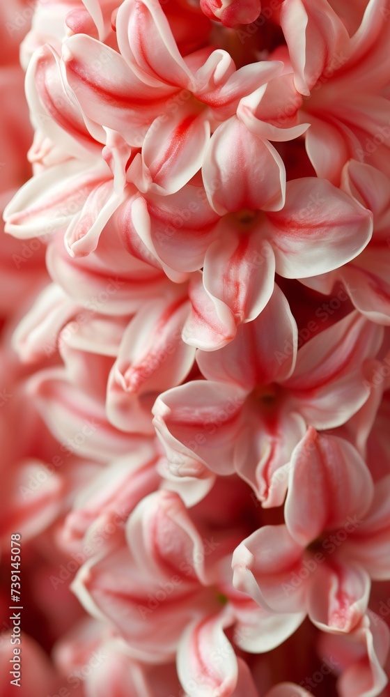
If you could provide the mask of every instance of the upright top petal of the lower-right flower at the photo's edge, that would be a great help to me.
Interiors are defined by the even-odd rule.
[[[373,498],[373,480],[357,450],[343,438],[309,428],[292,454],[286,526],[306,546],[326,530],[361,519]]]

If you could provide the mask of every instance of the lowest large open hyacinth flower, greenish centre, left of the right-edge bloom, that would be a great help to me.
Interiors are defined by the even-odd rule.
[[[262,612],[226,583],[233,537],[214,536],[212,528],[205,536],[206,530],[203,536],[196,530],[177,494],[146,497],[127,522],[127,542],[118,540],[81,567],[75,591],[93,614],[111,620],[135,659],[160,663],[177,652],[184,689],[194,684],[196,695],[255,695],[223,630],[235,624],[235,642],[263,652],[281,640],[279,627],[286,637],[301,618]]]

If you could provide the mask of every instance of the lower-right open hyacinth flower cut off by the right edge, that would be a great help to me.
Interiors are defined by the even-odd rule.
[[[366,611],[370,578],[390,573],[388,484],[374,489],[350,443],[309,429],[292,457],[286,524],[263,526],[235,550],[235,587],[268,611],[305,608],[320,629],[348,633]]]

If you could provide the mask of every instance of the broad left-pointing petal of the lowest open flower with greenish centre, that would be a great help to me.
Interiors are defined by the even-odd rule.
[[[174,659],[182,631],[202,603],[194,583],[141,573],[125,546],[102,559],[91,558],[79,570],[72,590],[90,614],[114,625],[130,656],[149,663]],[[157,599],[162,592],[164,602]]]

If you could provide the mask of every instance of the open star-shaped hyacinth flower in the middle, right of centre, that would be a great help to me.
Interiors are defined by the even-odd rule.
[[[237,472],[264,505],[280,505],[292,450],[306,427],[333,429],[363,406],[364,362],[381,343],[382,328],[352,312],[297,351],[295,320],[275,286],[258,319],[242,325],[231,344],[198,351],[206,380],[157,399],[155,427],[172,473]]]

